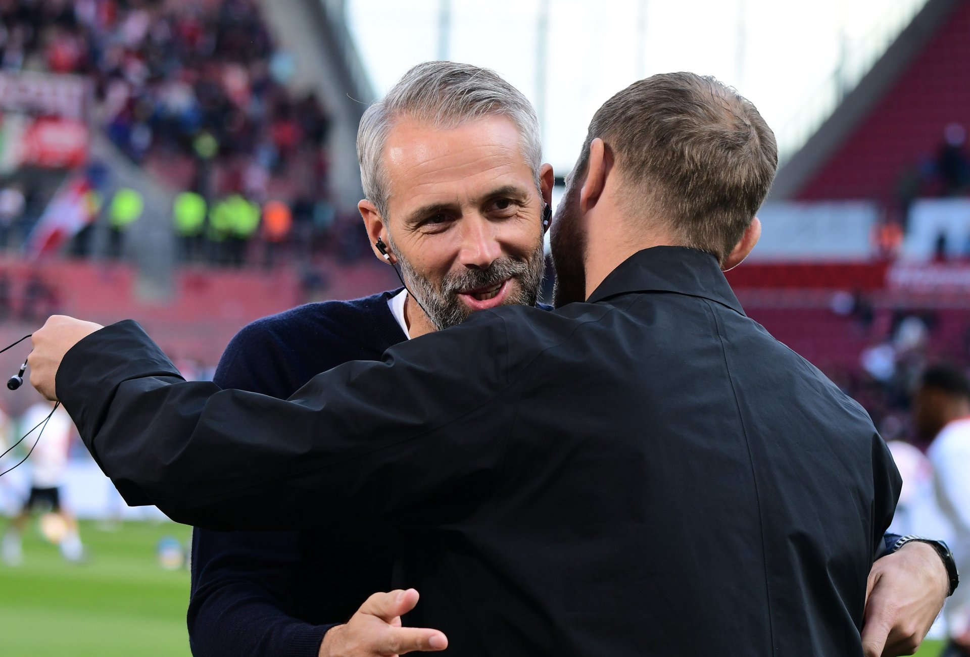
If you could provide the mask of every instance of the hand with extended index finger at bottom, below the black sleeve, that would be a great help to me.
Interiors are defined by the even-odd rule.
[[[401,616],[417,604],[413,588],[374,593],[345,625],[324,635],[319,657],[397,657],[448,647],[447,638],[437,630],[402,626]]]

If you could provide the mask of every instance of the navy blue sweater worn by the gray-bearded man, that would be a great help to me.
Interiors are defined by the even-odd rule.
[[[229,343],[214,381],[286,398],[347,360],[378,360],[406,339],[387,304],[398,292],[309,303],[257,320]],[[331,531],[326,518],[321,509],[319,528],[303,532],[195,530],[194,655],[315,657],[333,624],[392,588],[395,531],[377,523]]]

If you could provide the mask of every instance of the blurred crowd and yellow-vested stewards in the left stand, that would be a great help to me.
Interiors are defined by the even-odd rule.
[[[0,0],[0,68],[91,80],[105,134],[180,189],[172,226],[186,262],[273,266],[292,245],[311,253],[334,241],[343,218],[326,191],[330,119],[313,93],[287,89],[294,66],[252,0]],[[0,186],[0,251],[19,248],[39,219],[37,188],[22,176]],[[70,252],[91,255],[100,224],[103,255],[120,257],[144,200],[92,189],[90,225]]]

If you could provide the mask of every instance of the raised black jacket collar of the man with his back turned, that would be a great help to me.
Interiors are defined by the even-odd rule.
[[[588,302],[636,292],[704,297],[744,315],[714,256],[683,246],[654,246],[637,251],[603,279]]]

